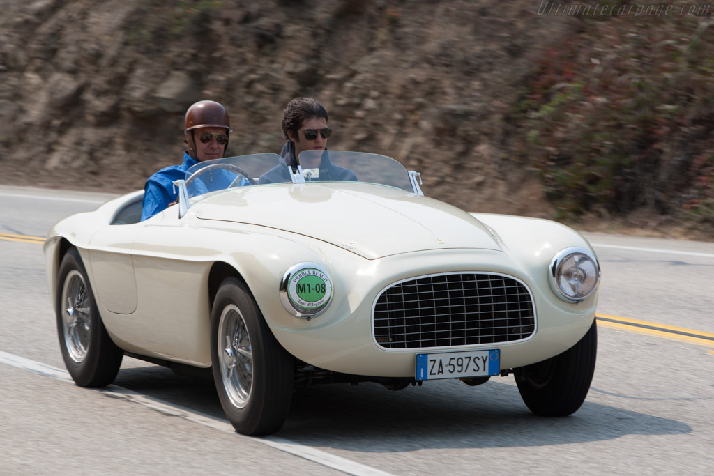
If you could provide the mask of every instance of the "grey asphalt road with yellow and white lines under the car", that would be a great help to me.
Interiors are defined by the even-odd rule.
[[[714,474],[714,243],[585,234],[603,270],[598,367],[570,417],[532,415],[512,377],[323,385],[253,438],[212,383],[139,360],[104,390],[68,380],[41,240],[24,237],[106,197],[0,187],[0,475]]]

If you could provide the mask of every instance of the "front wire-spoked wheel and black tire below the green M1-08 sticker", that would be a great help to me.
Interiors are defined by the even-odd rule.
[[[211,362],[221,405],[239,433],[280,430],[293,397],[295,360],[237,278],[226,278],[213,301]]]

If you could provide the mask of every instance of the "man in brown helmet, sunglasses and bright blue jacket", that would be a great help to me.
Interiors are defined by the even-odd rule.
[[[232,131],[226,108],[215,101],[198,101],[186,111],[186,139],[188,150],[183,152],[183,163],[162,168],[144,185],[141,221],[151,218],[178,200],[173,183],[186,178],[186,171],[198,162],[223,157]]]

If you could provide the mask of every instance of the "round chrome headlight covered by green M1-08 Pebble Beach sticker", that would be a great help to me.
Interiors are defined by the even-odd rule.
[[[315,263],[291,266],[280,282],[280,300],[296,318],[320,315],[332,299],[332,281],[327,270]]]

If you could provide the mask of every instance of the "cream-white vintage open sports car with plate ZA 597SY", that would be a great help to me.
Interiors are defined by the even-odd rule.
[[[293,391],[316,383],[513,373],[536,414],[578,410],[600,280],[585,238],[427,198],[385,156],[300,162],[206,161],[146,221],[136,191],[56,223],[46,273],[76,384],[109,385],[123,355],[203,369],[247,435],[279,430]]]

